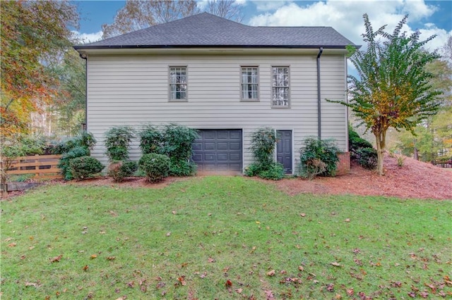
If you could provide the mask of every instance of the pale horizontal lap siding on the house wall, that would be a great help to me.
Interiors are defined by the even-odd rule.
[[[186,66],[188,101],[168,101],[169,66]],[[240,101],[241,69],[259,68],[258,102]],[[290,108],[271,108],[271,67],[290,66]],[[345,58],[321,56],[322,137],[346,149],[346,110],[325,99],[345,99]],[[107,163],[103,135],[110,127],[180,123],[198,129],[243,129],[244,167],[249,135],[257,127],[293,130],[294,156],[302,139],[317,135],[316,55],[301,56],[89,56],[88,130],[92,155]],[[141,156],[133,144],[131,158]]]

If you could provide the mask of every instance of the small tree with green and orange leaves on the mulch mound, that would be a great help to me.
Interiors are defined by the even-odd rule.
[[[441,92],[432,87],[434,77],[425,66],[439,55],[423,48],[435,36],[420,41],[420,32],[401,32],[405,16],[393,33],[386,25],[374,31],[364,14],[366,32],[362,35],[367,49],[356,51],[352,61],[359,78],[350,75],[350,102],[335,101],[349,106],[376,137],[377,170],[383,175],[383,153],[389,127],[412,131],[417,124],[439,109]],[[383,41],[383,42],[382,42]]]

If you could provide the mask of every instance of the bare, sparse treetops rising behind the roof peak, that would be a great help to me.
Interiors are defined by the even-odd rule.
[[[243,18],[241,5],[234,0],[208,0],[203,11],[237,22]],[[201,8],[196,0],[127,0],[113,23],[102,25],[102,38],[123,35],[197,13],[201,13]]]

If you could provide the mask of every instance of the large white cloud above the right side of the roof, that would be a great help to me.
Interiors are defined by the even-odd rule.
[[[326,0],[311,5],[304,5],[302,2],[300,4],[281,4],[280,2],[276,11],[255,15],[249,24],[255,26],[331,26],[355,44],[363,44],[361,35],[364,32],[362,20],[364,13],[369,15],[374,30],[387,24],[387,30],[391,32],[407,13],[410,15],[408,22],[417,22],[429,18],[434,11],[436,11],[436,7],[429,6],[420,0]],[[405,25],[403,30],[408,33],[413,31],[409,25]],[[439,35],[431,42],[435,47],[436,44],[444,44],[447,35],[450,34],[432,24],[425,25],[424,29],[420,28],[420,32],[422,32],[422,39],[426,39],[432,34]]]

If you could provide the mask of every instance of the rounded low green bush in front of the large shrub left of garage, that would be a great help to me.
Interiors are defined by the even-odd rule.
[[[145,154],[138,162],[139,168],[143,170],[149,182],[159,182],[168,176],[169,157],[163,154]]]

